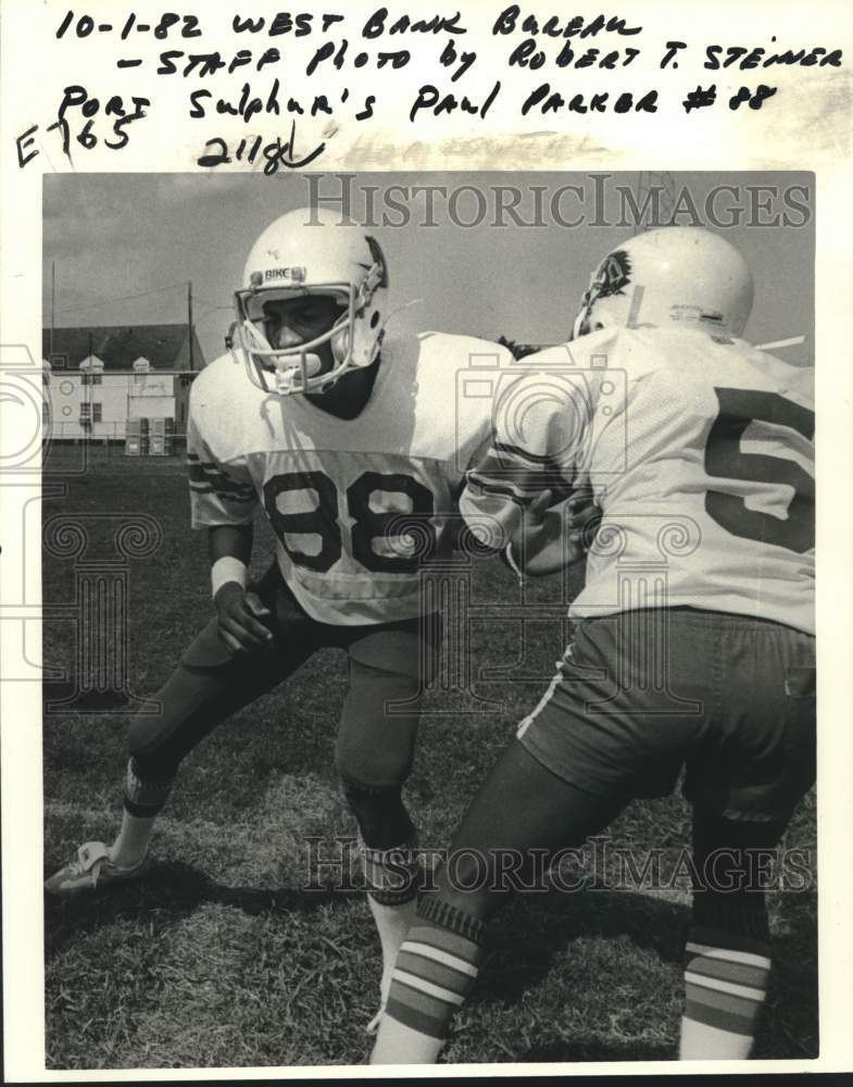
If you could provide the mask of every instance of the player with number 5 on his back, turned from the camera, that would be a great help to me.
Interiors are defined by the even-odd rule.
[[[501,872],[525,877],[506,851],[529,864],[577,847],[683,766],[697,876],[680,1057],[749,1055],[767,858],[815,777],[813,375],[740,338],[752,297],[720,236],[639,235],[592,276],[570,342],[499,395],[465,516],[496,518],[515,561],[549,573],[576,550],[559,511],[534,535],[522,511],[588,480],[603,515],[573,642],[422,898],[374,1063],[437,1059],[507,898]]]

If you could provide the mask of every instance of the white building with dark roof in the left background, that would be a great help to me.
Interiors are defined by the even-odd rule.
[[[204,366],[195,332],[189,351],[186,325],[54,328],[52,351],[50,339],[46,329],[43,411],[51,440],[123,441],[128,420],[173,421],[170,429],[186,435],[190,385]]]

